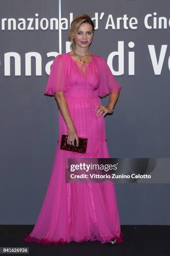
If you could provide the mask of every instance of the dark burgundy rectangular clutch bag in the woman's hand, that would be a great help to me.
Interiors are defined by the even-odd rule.
[[[69,144],[67,144],[67,135],[62,134],[60,149],[85,154],[86,149],[87,149],[87,140],[88,140],[87,138],[80,138],[80,137],[78,137],[78,144],[79,145],[76,146],[76,140],[75,140],[74,141],[75,145],[74,146],[72,146],[72,145],[70,146]]]

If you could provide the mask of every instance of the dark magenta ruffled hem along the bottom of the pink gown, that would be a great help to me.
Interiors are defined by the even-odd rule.
[[[107,236],[107,237],[97,237],[97,236],[87,236],[83,239],[80,239],[79,241],[77,240],[74,240],[74,238],[70,239],[69,241],[65,241],[64,238],[60,238],[60,240],[58,241],[52,241],[48,238],[42,238],[42,239],[39,239],[39,238],[35,238],[35,237],[32,237],[28,234],[25,234],[25,238],[23,239],[23,241],[25,241],[26,243],[38,243],[38,244],[42,244],[42,245],[50,245],[50,244],[54,244],[54,245],[57,245],[59,243],[62,243],[62,244],[65,244],[65,243],[70,243],[71,241],[75,241],[75,242],[78,242],[78,243],[81,243],[81,242],[87,242],[87,241],[100,241],[100,243],[108,243],[109,240],[114,240],[115,238],[117,239],[117,243],[123,243],[124,241],[124,234],[122,232],[120,232],[120,236]]]

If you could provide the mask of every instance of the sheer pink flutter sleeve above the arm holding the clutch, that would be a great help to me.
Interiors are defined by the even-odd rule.
[[[56,91],[67,92],[62,54],[57,55],[51,65],[44,95],[55,96]]]

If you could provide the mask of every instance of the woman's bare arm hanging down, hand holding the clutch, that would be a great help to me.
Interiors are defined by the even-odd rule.
[[[78,146],[78,136],[75,125],[71,119],[70,112],[68,109],[67,101],[63,92],[55,92],[55,99],[57,100],[60,113],[65,120],[67,125],[67,144],[74,146],[74,139],[76,139],[76,146]]]

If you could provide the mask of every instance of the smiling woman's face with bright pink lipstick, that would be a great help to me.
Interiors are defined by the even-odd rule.
[[[89,23],[82,23],[78,31],[76,32],[75,38],[75,45],[80,46],[82,48],[88,48],[92,42],[92,25]],[[88,40],[90,39],[90,40]],[[86,44],[83,42],[87,42]]]

